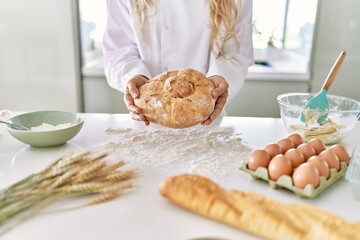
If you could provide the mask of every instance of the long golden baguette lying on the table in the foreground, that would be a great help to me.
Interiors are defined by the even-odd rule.
[[[302,204],[226,190],[200,175],[165,179],[160,193],[195,213],[264,239],[360,239],[357,224]]]

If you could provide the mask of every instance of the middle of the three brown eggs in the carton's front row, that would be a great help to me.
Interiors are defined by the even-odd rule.
[[[292,173],[291,161],[282,154],[276,155],[271,159],[268,171],[271,180],[278,180],[282,175],[290,176]]]

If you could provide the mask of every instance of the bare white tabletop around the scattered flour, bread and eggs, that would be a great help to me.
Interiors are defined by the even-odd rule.
[[[143,128],[126,114],[84,114],[80,133],[65,145],[53,148],[32,148],[0,133],[0,188],[47,166],[65,151],[82,150],[109,141],[106,128]],[[151,126],[150,126],[151,127]],[[281,119],[225,117],[220,127],[233,127],[250,148],[263,148],[288,136]],[[341,143],[351,153],[360,142],[360,122]],[[159,140],[161,141],[161,140]],[[73,211],[37,215],[17,226],[2,239],[257,239],[245,232],[198,216],[164,199],[158,184],[173,175],[161,167],[140,167],[135,179],[137,187],[122,197],[97,206]],[[303,199],[289,191],[272,189],[242,171],[214,176],[228,189],[251,191],[281,202],[306,203],[338,214],[349,221],[360,221],[360,202],[349,183],[338,180],[315,199]],[[57,203],[61,205],[61,203]]]

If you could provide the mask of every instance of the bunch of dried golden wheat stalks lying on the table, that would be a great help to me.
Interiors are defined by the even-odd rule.
[[[132,188],[128,180],[136,175],[135,171],[120,170],[125,165],[123,160],[108,163],[109,155],[109,151],[70,153],[2,189],[0,236],[61,199],[94,195],[80,207],[92,206],[113,200]]]

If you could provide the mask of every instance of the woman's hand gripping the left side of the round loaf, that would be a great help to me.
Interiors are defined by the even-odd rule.
[[[145,122],[145,125],[149,125],[150,122],[147,121],[146,117],[141,114],[140,108],[135,106],[134,99],[139,98],[140,96],[139,87],[144,83],[146,83],[147,80],[148,79],[146,77],[141,75],[134,76],[128,81],[124,93],[124,102],[129,110],[132,119],[136,121],[143,121]]]

